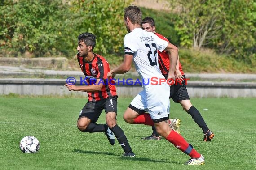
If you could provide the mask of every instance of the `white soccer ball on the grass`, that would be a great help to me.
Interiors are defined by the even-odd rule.
[[[20,149],[23,153],[36,153],[40,143],[34,136],[25,136],[20,142]]]

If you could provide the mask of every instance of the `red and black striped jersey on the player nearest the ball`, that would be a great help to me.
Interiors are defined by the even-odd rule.
[[[109,64],[104,57],[95,54],[93,60],[90,62],[84,62],[83,57],[76,56],[82,72],[85,75],[87,85],[91,85],[96,82],[96,79],[101,79],[99,83],[102,83],[101,91],[88,92],[89,101],[98,101],[110,96],[116,96],[115,81],[108,82],[107,73],[110,72]],[[94,81],[93,81],[94,79]],[[110,77],[110,79],[112,79]]]

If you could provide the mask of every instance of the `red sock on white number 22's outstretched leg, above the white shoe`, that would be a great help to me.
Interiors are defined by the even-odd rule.
[[[180,149],[182,152],[186,153],[192,158],[199,158],[201,156],[192,145],[189,144],[180,134],[175,131],[171,131],[167,136],[166,140],[171,142],[177,149]]]

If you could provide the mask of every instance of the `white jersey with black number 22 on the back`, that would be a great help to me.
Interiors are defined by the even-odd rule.
[[[164,79],[159,66],[157,51],[162,52],[168,42],[152,32],[136,28],[124,37],[125,54],[133,55],[135,68],[142,79],[144,88],[155,84],[156,79]],[[154,81],[152,82],[152,80]]]

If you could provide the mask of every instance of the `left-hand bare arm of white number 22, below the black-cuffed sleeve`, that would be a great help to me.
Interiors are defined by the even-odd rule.
[[[125,54],[123,63],[119,65],[119,67],[110,70],[107,76],[108,77],[112,76],[114,78],[116,74],[124,74],[128,72],[132,67],[132,59],[133,59],[133,55]]]

